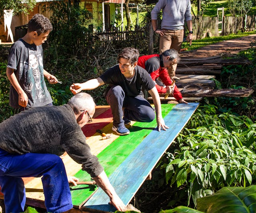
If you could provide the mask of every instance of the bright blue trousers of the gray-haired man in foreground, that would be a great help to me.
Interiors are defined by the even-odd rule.
[[[47,212],[72,209],[68,178],[62,159],[54,154],[10,154],[0,149],[0,186],[6,213],[24,212],[26,193],[21,177],[41,177]]]

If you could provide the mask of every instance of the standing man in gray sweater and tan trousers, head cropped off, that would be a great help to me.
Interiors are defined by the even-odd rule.
[[[162,10],[161,29],[157,26],[158,13]],[[181,49],[184,35],[184,19],[188,26],[186,41],[192,43],[192,16],[190,0],[159,0],[151,11],[152,27],[160,35],[160,54],[167,49]],[[177,64],[168,69],[169,75],[175,75]]]

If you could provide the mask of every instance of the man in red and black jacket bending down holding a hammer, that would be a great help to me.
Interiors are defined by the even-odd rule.
[[[168,49],[161,55],[153,54],[140,56],[138,59],[138,65],[148,71],[156,84],[156,89],[159,94],[170,93],[179,103],[187,104],[188,102],[184,101],[177,86],[175,84],[174,88],[171,86],[172,80],[167,71],[167,68],[178,63],[179,59],[178,51],[175,49]],[[162,82],[157,80],[158,77]]]

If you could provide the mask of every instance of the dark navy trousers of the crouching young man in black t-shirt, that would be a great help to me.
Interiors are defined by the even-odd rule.
[[[113,125],[115,127],[124,125],[123,116],[128,120],[139,122],[151,122],[155,118],[153,108],[144,97],[125,96],[124,90],[118,85],[109,89],[106,94],[106,100],[112,110]]]

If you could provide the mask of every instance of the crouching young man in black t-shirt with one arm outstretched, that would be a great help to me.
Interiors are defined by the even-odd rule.
[[[145,88],[153,98],[158,131],[161,127],[163,130],[168,128],[162,118],[160,97],[155,83],[145,69],[137,66],[138,57],[137,49],[127,47],[118,55],[118,65],[111,67],[97,79],[70,86],[71,92],[75,95],[82,90],[95,89],[108,83],[106,100],[113,114],[112,130],[119,135],[130,134],[125,127],[125,124],[130,124],[130,120],[151,122],[155,118],[153,108],[144,99],[142,88]]]

